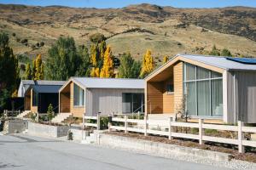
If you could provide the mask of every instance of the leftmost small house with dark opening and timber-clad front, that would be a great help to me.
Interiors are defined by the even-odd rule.
[[[59,89],[64,81],[35,81],[24,94],[25,111],[46,113],[49,104],[59,111]]]

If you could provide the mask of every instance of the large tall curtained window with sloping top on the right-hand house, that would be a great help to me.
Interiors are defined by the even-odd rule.
[[[185,63],[183,77],[190,116],[223,116],[222,74]]]

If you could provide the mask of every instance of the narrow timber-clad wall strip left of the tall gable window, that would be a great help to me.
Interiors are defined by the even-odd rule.
[[[183,105],[183,62],[179,61],[173,65],[174,82],[174,112],[177,113]]]

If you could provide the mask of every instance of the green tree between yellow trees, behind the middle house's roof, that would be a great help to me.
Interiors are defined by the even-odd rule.
[[[141,63],[131,58],[131,54],[123,54],[120,59],[118,70],[119,78],[137,78],[139,77]]]

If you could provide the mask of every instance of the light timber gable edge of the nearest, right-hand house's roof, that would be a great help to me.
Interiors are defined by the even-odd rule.
[[[223,72],[224,70],[228,70],[227,68],[223,68],[223,67],[219,67],[218,65],[212,65],[212,64],[209,64],[207,62],[202,62],[200,60],[196,60],[196,59],[188,59],[188,58],[185,58],[183,57],[183,54],[177,54],[175,55],[172,59],[170,59],[168,62],[166,62],[166,64],[164,65],[161,65],[160,67],[158,67],[156,70],[154,70],[153,72],[151,72],[148,77],[145,77],[144,80],[146,82],[148,82],[150,79],[152,79],[154,76],[158,75],[161,71],[164,71],[166,70],[166,68],[168,68],[169,66],[175,64],[177,61],[184,61],[184,62],[188,62],[190,64],[193,64],[193,65],[209,65],[211,66],[213,71],[218,71],[218,72]],[[195,61],[196,63],[193,63],[193,61]],[[202,67],[204,67],[202,66]]]

